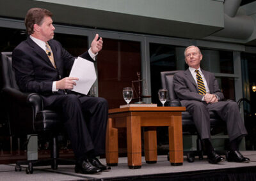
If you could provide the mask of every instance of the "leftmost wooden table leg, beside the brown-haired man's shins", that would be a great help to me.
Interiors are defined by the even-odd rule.
[[[113,119],[108,119],[106,132],[106,163],[108,166],[118,164],[118,130],[113,127]]]

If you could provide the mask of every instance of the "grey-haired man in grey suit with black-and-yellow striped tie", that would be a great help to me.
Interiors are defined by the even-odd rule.
[[[239,152],[239,143],[247,134],[235,101],[222,101],[220,91],[214,75],[200,68],[203,55],[198,47],[190,46],[184,52],[189,68],[173,76],[174,91],[181,105],[191,113],[196,129],[200,134],[203,145],[207,150],[209,163],[220,163],[224,158],[216,154],[211,143],[209,111],[216,112],[227,124],[230,140],[227,161],[248,163],[250,159],[243,157]]]

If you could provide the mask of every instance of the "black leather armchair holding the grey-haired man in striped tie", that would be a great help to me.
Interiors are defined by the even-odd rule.
[[[161,83],[164,89],[168,90],[169,105],[170,106],[181,106],[180,101],[177,99],[173,90],[173,75],[179,71],[162,71],[161,72]],[[225,121],[221,120],[218,115],[214,112],[210,112],[211,129],[216,127],[225,127]],[[182,131],[183,134],[197,134],[196,127],[193,122],[193,117],[189,112],[182,112]],[[198,134],[197,134],[198,135]],[[193,162],[197,155],[199,159],[203,159],[202,141],[198,135],[196,140],[196,152],[186,153],[189,162]]]

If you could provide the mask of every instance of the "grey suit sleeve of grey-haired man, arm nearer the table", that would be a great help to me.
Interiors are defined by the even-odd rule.
[[[180,75],[180,73],[176,73],[173,76],[173,87],[176,96],[180,100],[196,100],[202,101],[203,96],[198,94],[197,92],[192,92],[189,90],[188,80],[184,78],[185,76]]]

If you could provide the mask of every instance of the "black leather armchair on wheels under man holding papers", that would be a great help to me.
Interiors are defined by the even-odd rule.
[[[35,161],[17,161],[15,171],[21,171],[21,164],[28,164],[26,173],[33,173],[33,166],[51,165],[56,170],[58,164],[75,164],[74,160],[59,159],[57,135],[63,128],[61,117],[52,110],[44,110],[39,94],[19,91],[12,69],[12,52],[1,53],[1,76],[3,89],[1,94],[10,124],[12,135],[51,134],[51,159]]]

